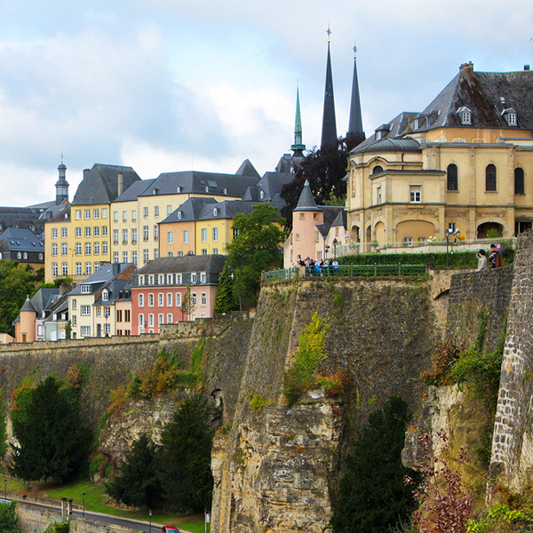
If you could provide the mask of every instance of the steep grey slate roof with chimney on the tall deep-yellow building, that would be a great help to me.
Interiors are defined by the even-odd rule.
[[[118,174],[123,175],[123,190],[140,178],[131,167],[95,163],[84,170],[84,179],[77,188],[72,205],[111,203],[118,196]]]

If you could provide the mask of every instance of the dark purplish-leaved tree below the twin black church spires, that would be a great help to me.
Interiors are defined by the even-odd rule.
[[[287,226],[292,227],[292,211],[296,207],[306,179],[318,205],[335,204],[332,197],[341,198],[346,195],[346,167],[348,153],[364,140],[364,135],[350,135],[339,138],[335,144],[327,144],[316,148],[306,156],[295,172],[294,179],[282,187],[282,199],[285,207],[282,217]]]

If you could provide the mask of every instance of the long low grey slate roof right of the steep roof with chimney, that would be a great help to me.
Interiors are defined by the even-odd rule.
[[[246,189],[257,185],[258,176],[219,174],[216,172],[163,172],[151,187],[139,196],[176,195],[178,192],[190,195],[228,195],[243,197]]]

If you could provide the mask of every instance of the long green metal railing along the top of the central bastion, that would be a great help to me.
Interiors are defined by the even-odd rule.
[[[314,267],[291,267],[264,273],[265,282],[279,282],[305,277],[377,277],[426,275],[426,265],[339,265],[325,267],[320,272]]]

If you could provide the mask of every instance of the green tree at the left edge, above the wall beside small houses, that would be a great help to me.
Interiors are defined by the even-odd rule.
[[[36,278],[31,267],[15,261],[0,260],[0,332],[14,335],[12,322],[26,297],[33,296]]]

